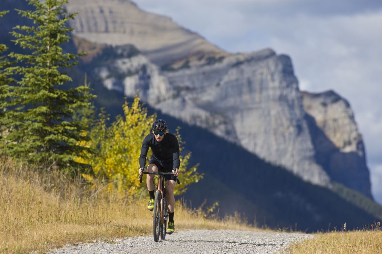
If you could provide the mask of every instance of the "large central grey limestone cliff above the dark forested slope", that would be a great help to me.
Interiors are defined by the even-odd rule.
[[[142,100],[163,113],[206,128],[306,181],[329,184],[327,173],[315,161],[288,56],[263,50],[227,56],[213,64],[198,59],[187,67],[159,71],[138,55],[117,59],[96,72],[108,88],[128,96],[139,88]],[[119,74],[113,77],[111,69]]]

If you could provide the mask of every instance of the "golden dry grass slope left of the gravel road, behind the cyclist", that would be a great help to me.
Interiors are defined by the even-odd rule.
[[[57,170],[31,170],[0,159],[0,253],[44,252],[67,243],[151,234],[146,199],[94,193],[81,179],[68,180]],[[205,216],[178,202],[176,229],[258,230],[240,219]]]

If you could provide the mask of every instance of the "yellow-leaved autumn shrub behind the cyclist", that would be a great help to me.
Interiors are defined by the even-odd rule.
[[[82,176],[97,191],[104,189],[132,196],[147,188],[146,175],[141,184],[138,180],[139,155],[142,141],[151,132],[151,125],[156,114],[148,115],[147,108],[142,108],[139,102],[138,96],[135,96],[131,106],[125,102],[124,115],[118,116],[109,127],[108,119],[102,112],[89,133],[91,140],[81,143],[91,148],[93,152],[81,154],[76,161],[91,166],[91,173],[82,174]],[[179,128],[176,136],[182,149],[183,141],[180,138]],[[190,156],[191,153],[180,156],[181,185],[175,189],[175,195],[185,192],[189,184],[202,178],[202,175],[196,172],[197,165],[187,169]],[[147,157],[151,157],[151,149]],[[146,167],[148,161],[146,160]]]

